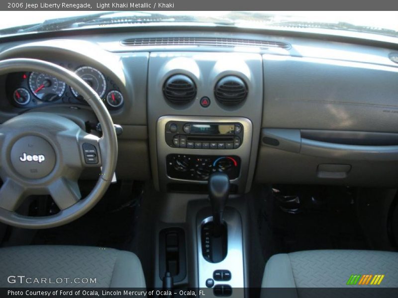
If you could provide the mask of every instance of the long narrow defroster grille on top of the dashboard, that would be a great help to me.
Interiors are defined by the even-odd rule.
[[[195,46],[195,47],[257,47],[263,50],[281,48],[289,50],[291,45],[281,41],[245,39],[245,38],[220,38],[220,37],[153,37],[153,38],[128,38],[121,41],[123,46]]]

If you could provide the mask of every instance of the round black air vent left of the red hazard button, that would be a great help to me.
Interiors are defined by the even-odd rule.
[[[187,75],[175,74],[169,77],[164,86],[165,98],[174,104],[187,104],[196,97],[196,86],[194,81]]]

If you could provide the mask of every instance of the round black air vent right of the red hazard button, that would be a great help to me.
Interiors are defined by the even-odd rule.
[[[238,105],[246,99],[247,87],[241,78],[228,75],[217,82],[214,87],[214,96],[221,104]]]

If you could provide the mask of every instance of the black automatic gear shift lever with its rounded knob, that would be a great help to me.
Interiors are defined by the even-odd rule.
[[[222,224],[222,213],[228,200],[228,175],[221,172],[211,174],[208,179],[208,192],[213,211],[214,233],[218,234]]]

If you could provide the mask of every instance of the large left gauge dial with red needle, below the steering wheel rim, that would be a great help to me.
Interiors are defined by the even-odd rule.
[[[65,92],[65,82],[55,76],[40,73],[31,73],[29,88],[37,98],[43,101],[55,101]]]

